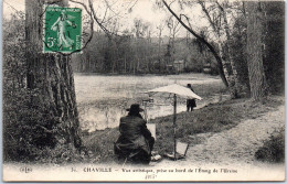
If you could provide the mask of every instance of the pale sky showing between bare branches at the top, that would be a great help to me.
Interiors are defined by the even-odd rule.
[[[9,14],[12,12],[18,11],[24,11],[25,0],[2,0],[3,1],[3,17],[9,18]],[[85,2],[87,4],[87,0],[77,0]],[[102,1],[102,2],[100,2]],[[99,18],[103,18],[106,11],[106,7],[103,6],[103,0],[94,0],[94,8],[97,12],[97,15]],[[110,6],[110,11],[108,9],[107,17],[115,17],[118,15],[118,22],[120,31],[124,31],[125,29],[131,30],[134,28],[134,20],[135,19],[141,19],[144,22],[149,22],[150,26],[152,28],[152,36],[158,35],[157,26],[159,24],[164,24],[164,20],[170,17],[170,12],[164,11],[163,9],[158,9],[155,6],[156,0],[108,0],[108,3]],[[185,13],[192,19],[192,25],[204,26],[206,23],[200,19],[200,12],[201,10],[199,8],[194,8],[193,10],[184,11],[180,10],[176,6],[177,3],[173,3],[173,9],[178,13]],[[70,3],[72,7],[78,7],[75,3]],[[131,11],[128,11],[129,8],[132,7]],[[166,25],[163,32],[163,35],[169,35],[169,30]],[[178,36],[185,36],[187,31],[181,28]]]

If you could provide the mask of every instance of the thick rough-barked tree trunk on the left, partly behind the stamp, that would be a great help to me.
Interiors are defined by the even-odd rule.
[[[53,132],[52,137],[56,143],[79,148],[79,122],[71,56],[42,53],[44,2],[25,1],[26,85],[29,89],[38,90],[38,96],[32,97],[31,105],[41,105],[45,109],[41,116],[53,118],[54,121],[44,128]],[[49,0],[49,3],[51,2],[52,0]],[[57,4],[66,7],[67,0]]]

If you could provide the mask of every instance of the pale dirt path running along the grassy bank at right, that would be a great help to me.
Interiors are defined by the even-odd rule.
[[[268,139],[274,130],[284,127],[284,106],[280,106],[276,111],[242,121],[230,130],[213,134],[198,134],[196,138],[204,140],[203,143],[191,147],[187,153],[187,160],[180,161],[180,164],[255,164],[254,154],[263,145],[263,141]],[[155,166],[169,164],[174,164],[174,162],[163,160]]]

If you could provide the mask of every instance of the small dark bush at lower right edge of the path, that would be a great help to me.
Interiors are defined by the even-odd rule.
[[[285,161],[285,129],[272,133],[263,147],[256,151],[255,158],[259,161],[279,163]]]

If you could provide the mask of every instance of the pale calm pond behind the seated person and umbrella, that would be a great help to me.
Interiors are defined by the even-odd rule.
[[[203,98],[198,100],[198,108],[209,102],[216,102],[224,97],[221,91],[224,86],[217,76],[205,74],[181,74],[181,75],[145,75],[145,76],[106,76],[75,74],[75,90],[78,105],[78,116],[82,130],[95,131],[106,128],[115,128],[119,119],[127,115],[126,109],[131,104],[142,104],[148,99],[145,91],[170,84],[187,86],[191,84],[195,93]],[[172,96],[152,96],[153,102],[147,102],[146,119],[173,113]],[[185,99],[178,99],[177,111],[187,110]]]

